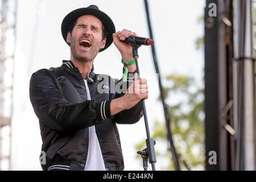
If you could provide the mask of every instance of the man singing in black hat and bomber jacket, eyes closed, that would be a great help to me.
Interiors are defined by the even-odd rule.
[[[42,168],[123,170],[116,123],[138,122],[141,100],[148,97],[146,80],[137,79],[132,48],[122,42],[137,35],[125,29],[115,32],[112,19],[95,5],[65,16],[61,32],[71,47],[71,59],[63,60],[57,68],[40,69],[30,80],[30,100],[39,118],[42,151],[46,154]],[[124,65],[125,79],[119,81],[93,72],[94,58],[112,42]],[[101,65],[104,67],[110,59],[105,57]]]

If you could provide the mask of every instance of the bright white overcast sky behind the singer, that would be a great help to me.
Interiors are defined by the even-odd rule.
[[[115,30],[126,28],[138,36],[149,37],[144,1],[18,0],[11,151],[13,170],[42,170],[39,163],[42,146],[39,122],[28,94],[30,77],[39,69],[59,67],[62,60],[69,60],[70,50],[61,36],[61,22],[72,10],[89,5],[97,5],[108,14]],[[204,34],[204,25],[197,18],[204,14],[205,1],[149,0],[148,5],[162,78],[178,73],[195,77],[197,84],[203,84],[204,54],[203,50],[196,49],[195,42]],[[155,121],[164,122],[163,107],[156,101],[159,88],[151,49],[143,46],[138,52],[141,77],[148,81],[146,109],[152,133]],[[98,53],[94,68],[96,73],[122,77],[121,55],[114,44]],[[173,102],[175,98],[168,98],[168,104]],[[146,140],[144,119],[134,125],[118,125],[118,130],[125,170],[143,170],[142,160],[135,159],[135,144]],[[156,143],[155,150],[167,150],[167,143]],[[167,165],[160,159],[156,169]]]

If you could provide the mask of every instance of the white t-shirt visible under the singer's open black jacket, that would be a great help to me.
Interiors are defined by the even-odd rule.
[[[84,80],[87,99],[90,100],[90,92],[87,81]],[[101,154],[100,143],[96,135],[95,126],[89,127],[89,146],[88,155],[85,163],[84,171],[106,171],[104,160]]]

